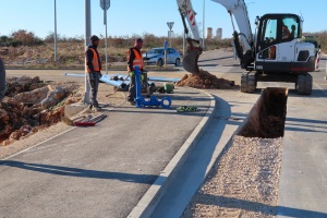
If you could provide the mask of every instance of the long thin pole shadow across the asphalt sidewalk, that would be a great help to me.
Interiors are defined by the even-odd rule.
[[[153,184],[158,178],[157,174],[132,174],[123,172],[107,172],[99,170],[86,170],[78,168],[41,165],[41,164],[29,164],[14,160],[0,160],[0,167],[8,166],[20,168],[24,170],[31,170],[36,172],[65,175],[65,177],[77,177],[77,178],[93,178],[93,179],[105,179],[105,180],[120,180],[123,182],[144,183]]]

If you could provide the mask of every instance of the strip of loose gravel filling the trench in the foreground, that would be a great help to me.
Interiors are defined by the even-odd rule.
[[[182,217],[275,217],[282,137],[233,136]]]

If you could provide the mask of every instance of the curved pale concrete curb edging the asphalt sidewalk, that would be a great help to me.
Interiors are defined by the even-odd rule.
[[[196,89],[198,90],[198,89]],[[197,144],[199,138],[203,136],[205,129],[207,128],[209,121],[215,116],[216,110],[216,99],[210,94],[204,90],[199,90],[210,97],[210,106],[202,121],[194,129],[189,138],[184,142],[182,147],[173,156],[170,162],[166,166],[162,172],[159,174],[157,180],[147,190],[144,196],[140,199],[137,205],[128,216],[129,218],[138,217],[150,217],[152,213],[156,208],[157,204],[160,202],[161,197],[165,195],[168,186],[173,181],[180,167],[185,162],[186,158],[191,154],[193,147]]]

